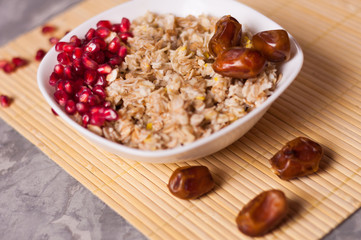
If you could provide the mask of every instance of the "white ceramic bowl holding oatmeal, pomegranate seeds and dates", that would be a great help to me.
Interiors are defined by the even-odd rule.
[[[187,16],[189,14],[199,15],[204,13],[222,17],[223,15],[230,14],[241,24],[247,26],[247,29],[253,33],[282,28],[280,25],[265,17],[261,13],[233,0],[133,0],[91,18],[72,30],[62,39],[62,41],[69,41],[69,38],[72,35],[83,37],[87,30],[91,27],[95,27],[99,20],[107,19],[112,22],[120,22],[122,17],[127,17],[132,20],[138,16],[144,15],[146,11],[173,13],[178,16]],[[282,80],[278,83],[274,93],[261,106],[211,136],[199,139],[186,146],[169,150],[144,151],[129,148],[90,132],[69,117],[54,101],[54,89],[48,84],[49,76],[54,68],[54,65],[57,63],[57,53],[54,48],[48,52],[39,66],[37,75],[38,85],[46,101],[59,114],[59,116],[75,130],[83,134],[84,137],[92,140],[97,146],[126,159],[135,161],[150,163],[186,161],[212,154],[239,139],[248,130],[250,130],[254,124],[257,123],[271,104],[292,83],[301,70],[303,64],[303,53],[299,44],[292,36],[290,36],[290,40],[292,57],[289,61],[282,64],[280,69],[283,74]]]

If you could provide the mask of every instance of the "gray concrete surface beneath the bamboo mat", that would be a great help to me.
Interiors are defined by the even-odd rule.
[[[0,46],[77,2],[0,0]],[[0,239],[145,237],[0,119]],[[324,238],[350,239],[361,239],[360,210]]]

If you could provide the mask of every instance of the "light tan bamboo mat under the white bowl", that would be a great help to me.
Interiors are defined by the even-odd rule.
[[[85,1],[50,23],[61,35],[123,1],[101,2]],[[0,94],[14,98],[0,117],[151,239],[247,239],[235,217],[270,188],[286,193],[291,211],[265,239],[319,239],[361,205],[361,2],[242,2],[286,28],[301,44],[305,62],[261,121],[212,156],[152,165],[97,148],[50,112],[37,89],[35,62],[11,75],[0,73]],[[38,28],[4,46],[0,57],[33,59],[39,47],[50,48]],[[325,157],[317,174],[282,181],[271,173],[268,159],[297,136],[321,143]],[[172,171],[198,164],[212,171],[215,190],[194,201],[172,197],[166,187]]]

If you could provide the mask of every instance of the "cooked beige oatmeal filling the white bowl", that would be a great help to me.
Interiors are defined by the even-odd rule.
[[[148,12],[132,22],[128,55],[107,76],[106,100],[119,118],[102,128],[106,138],[145,150],[186,145],[243,117],[272,94],[278,81],[273,63],[247,80],[214,72],[208,42],[216,21]]]

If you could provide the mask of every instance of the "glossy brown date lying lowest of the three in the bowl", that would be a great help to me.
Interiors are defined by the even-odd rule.
[[[218,55],[212,67],[223,76],[246,79],[256,77],[265,64],[266,59],[259,51],[233,47]]]

